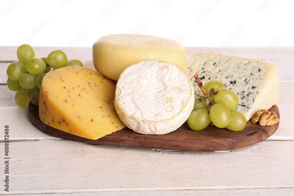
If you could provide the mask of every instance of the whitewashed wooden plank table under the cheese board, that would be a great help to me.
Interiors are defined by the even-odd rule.
[[[52,47],[34,47],[47,56]],[[91,59],[91,48],[62,48],[69,59]],[[280,126],[266,141],[245,148],[191,152],[91,145],[51,137],[29,122],[6,86],[6,68],[17,47],[0,47],[0,194],[73,195],[294,195],[294,47],[225,48],[222,54],[275,64],[280,77]],[[187,48],[187,61],[197,52]],[[261,59],[260,59],[261,60]],[[88,64],[86,66],[93,66]],[[93,67],[92,67],[93,68]],[[4,126],[9,125],[9,156]],[[4,159],[9,157],[9,192]]]

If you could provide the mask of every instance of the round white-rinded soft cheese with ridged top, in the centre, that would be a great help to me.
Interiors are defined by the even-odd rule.
[[[116,84],[115,108],[121,121],[143,134],[179,128],[194,106],[194,90],[176,64],[146,60],[126,68]]]

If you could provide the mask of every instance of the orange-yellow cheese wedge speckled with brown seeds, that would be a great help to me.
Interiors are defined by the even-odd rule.
[[[96,140],[125,127],[114,107],[116,84],[90,68],[71,66],[43,78],[39,116],[59,130]]]

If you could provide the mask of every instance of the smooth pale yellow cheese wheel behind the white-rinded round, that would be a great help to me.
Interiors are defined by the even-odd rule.
[[[93,45],[93,63],[104,76],[118,80],[121,73],[144,60],[161,60],[186,68],[186,48],[176,41],[139,34],[103,36]]]

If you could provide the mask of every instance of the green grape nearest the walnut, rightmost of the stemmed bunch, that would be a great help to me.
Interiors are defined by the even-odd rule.
[[[245,116],[236,110],[230,110],[231,122],[226,128],[231,131],[240,131],[246,127]]]

